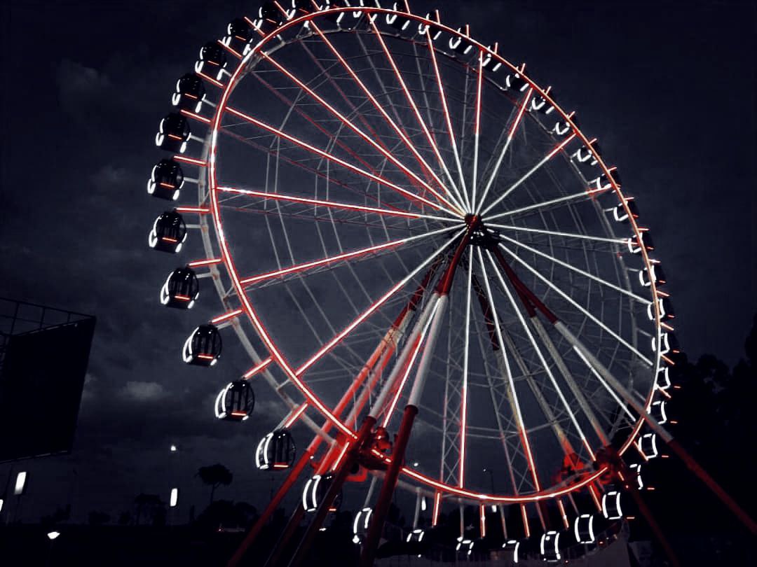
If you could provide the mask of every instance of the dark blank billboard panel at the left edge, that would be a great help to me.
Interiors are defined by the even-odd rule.
[[[5,334],[0,462],[71,450],[94,331],[88,317]]]

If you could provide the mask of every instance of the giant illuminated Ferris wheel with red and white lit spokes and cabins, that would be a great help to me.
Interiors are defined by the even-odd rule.
[[[196,200],[149,244],[197,256],[160,301],[220,296],[182,349],[210,367],[235,334],[249,356],[217,417],[248,420],[259,382],[289,408],[251,451],[287,474],[269,510],[312,467],[311,538],[345,480],[371,479],[366,565],[396,486],[409,538],[427,501],[431,526],[474,504],[476,537],[494,516],[543,559],[622,519],[615,473],[641,486],[674,446],[674,310],[618,169],[552,88],[438,12],[294,0],[229,23],[172,102],[148,193]]]

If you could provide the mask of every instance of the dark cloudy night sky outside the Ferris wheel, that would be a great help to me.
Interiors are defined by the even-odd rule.
[[[579,111],[653,231],[683,349],[734,364],[757,311],[752,2],[446,4],[412,2],[499,41],[504,57],[527,62],[563,108]],[[145,180],[176,79],[253,9],[190,0],[0,8],[0,296],[98,318],[73,454],[28,463],[23,519],[68,499],[75,519],[115,517],[136,494],[167,500],[177,484],[185,519],[190,503],[207,502],[198,466],[216,462],[235,475],[218,497],[260,506],[274,486],[253,454],[281,402],[261,386],[254,423],[214,419],[220,374],[238,376],[245,362],[226,359],[210,378],[182,364],[190,324],[159,307],[168,265],[146,246],[157,209]],[[192,321],[217,314],[209,299]]]

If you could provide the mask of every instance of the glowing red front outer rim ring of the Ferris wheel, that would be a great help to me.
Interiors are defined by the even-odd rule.
[[[248,316],[249,321],[257,331],[258,335],[260,336],[260,339],[263,341],[263,343],[266,345],[266,349],[269,350],[270,355],[272,356],[273,360],[276,361],[276,364],[281,367],[281,369],[286,373],[288,378],[294,383],[295,386],[298,387],[298,389],[302,392],[304,397],[307,399],[307,401],[315,406],[320,413],[323,415],[323,417],[326,417],[327,420],[329,420],[335,427],[337,427],[341,432],[343,432],[345,435],[349,436],[350,438],[355,438],[355,432],[350,429],[349,426],[344,424],[341,420],[339,420],[337,417],[335,417],[334,414],[329,410],[328,407],[326,407],[325,404],[322,403],[322,401],[319,400],[319,398],[307,387],[306,384],[304,384],[301,380],[299,380],[297,374],[294,372],[294,369],[290,366],[288,361],[284,358],[281,352],[279,352],[279,349],[276,348],[276,344],[273,342],[273,339],[269,336],[266,327],[263,325],[263,322],[260,321],[260,318],[257,315],[257,312],[255,311],[253,305],[251,304],[248,297],[245,295],[243,287],[241,286],[241,283],[239,281],[238,274],[235,269],[234,261],[232,259],[231,254],[229,253],[229,247],[226,243],[226,237],[223,232],[223,223],[221,221],[220,217],[220,208],[219,208],[219,201],[218,201],[218,191],[217,191],[217,172],[216,172],[216,152],[217,152],[217,138],[218,138],[218,130],[220,129],[220,122],[221,118],[223,116],[223,113],[226,111],[226,104],[229,100],[229,96],[231,95],[232,91],[235,88],[235,85],[243,78],[245,70],[245,67],[247,67],[249,60],[251,60],[252,57],[255,57],[260,50],[273,38],[276,36],[279,36],[282,31],[285,31],[287,29],[291,29],[295,26],[301,26],[302,24],[314,20],[316,17],[320,17],[324,14],[338,14],[340,12],[363,12],[364,14],[387,14],[387,15],[402,15],[402,17],[406,17],[410,20],[413,20],[416,23],[428,25],[428,26],[435,26],[438,29],[441,29],[441,31],[444,31],[445,33],[450,34],[450,36],[456,36],[458,38],[464,38],[466,42],[469,42],[471,45],[473,45],[475,48],[478,48],[478,50],[482,51],[484,54],[489,54],[491,57],[493,57],[495,60],[499,61],[503,66],[505,66],[510,72],[512,73],[519,73],[520,76],[525,80],[525,82],[530,85],[531,88],[534,89],[534,93],[539,95],[541,98],[544,98],[545,101],[547,101],[548,104],[552,105],[556,112],[559,113],[559,116],[562,117],[562,119],[567,122],[573,132],[573,135],[575,137],[582,141],[584,144],[584,147],[587,147],[590,152],[593,155],[593,159],[597,160],[597,165],[600,167],[600,171],[606,175],[607,180],[612,185],[612,191],[615,192],[616,197],[618,197],[619,203],[623,206],[625,209],[625,212],[628,214],[628,220],[631,225],[631,229],[633,231],[633,234],[637,239],[641,238],[641,231],[639,230],[639,227],[637,225],[636,220],[634,219],[634,216],[631,214],[631,210],[628,207],[628,202],[625,199],[624,195],[621,192],[620,187],[615,182],[615,179],[610,175],[609,167],[606,165],[604,160],[602,159],[602,156],[597,153],[596,150],[591,146],[589,143],[589,138],[587,138],[586,135],[581,132],[580,129],[578,129],[578,126],[575,125],[575,123],[570,118],[569,114],[565,112],[565,110],[562,110],[562,107],[559,106],[559,104],[556,103],[556,101],[553,100],[553,98],[550,97],[550,95],[544,91],[542,88],[540,88],[530,77],[526,76],[525,73],[523,73],[521,70],[519,70],[515,65],[511,64],[508,60],[504,59],[500,54],[497,54],[497,52],[493,51],[491,48],[489,48],[486,45],[481,44],[480,42],[476,41],[470,36],[466,36],[465,34],[461,33],[457,29],[453,29],[449,26],[444,25],[444,23],[437,22],[435,20],[430,20],[427,17],[418,16],[416,14],[412,14],[409,12],[403,12],[403,11],[397,11],[393,9],[388,8],[374,8],[374,7],[344,7],[344,8],[328,8],[323,9],[320,11],[313,11],[308,14],[304,14],[300,17],[292,18],[291,20],[286,20],[284,23],[282,23],[279,27],[274,29],[271,33],[268,33],[265,36],[262,36],[260,39],[260,42],[257,42],[256,45],[254,45],[254,48],[251,48],[251,51],[247,55],[241,58],[239,60],[239,63],[237,67],[235,68],[234,72],[229,77],[229,82],[225,86],[223,86],[223,92],[220,98],[220,101],[217,104],[216,110],[213,113],[213,118],[210,120],[210,132],[209,132],[209,138],[210,143],[206,144],[208,147],[207,151],[207,181],[208,181],[208,195],[210,200],[210,214],[213,217],[213,225],[216,230],[217,234],[217,240],[218,240],[218,246],[220,248],[221,253],[221,259],[223,260],[223,264],[226,266],[226,272],[229,275],[229,280],[231,280],[232,285],[235,288],[235,291],[241,301],[241,305],[245,310],[245,313]],[[201,206],[204,203],[200,203]],[[643,264],[646,266],[647,270],[650,270],[652,268],[652,262],[650,261],[649,254],[643,246],[640,250]],[[651,278],[650,278],[651,279]],[[654,300],[654,298],[657,297],[657,289],[656,289],[656,282],[650,281],[650,293],[652,296],[652,299],[650,299],[650,302],[652,303],[654,307],[654,313],[655,313],[655,325],[656,325],[656,337],[659,344],[659,339],[662,334],[661,332],[661,321],[660,321],[660,312],[659,312],[659,305]],[[657,375],[660,369],[660,361],[661,361],[661,355],[659,352],[656,352],[655,361],[654,361],[654,376]],[[646,397],[645,401],[645,407],[647,407],[654,395],[655,389],[650,389],[650,393]],[[620,454],[625,453],[625,451],[628,450],[628,448],[631,446],[631,444],[634,442],[634,438],[637,437],[641,427],[643,426],[644,420],[642,417],[640,417],[637,420],[637,423],[634,425],[634,428],[631,431],[631,434],[628,435],[628,439],[623,443],[621,448],[618,450]],[[389,461],[390,459],[387,457],[385,460]],[[403,467],[402,472],[405,476],[409,476],[412,479],[416,479],[417,481],[421,482],[422,484],[427,485],[428,487],[434,489],[435,491],[442,491],[447,494],[454,494],[459,497],[464,497],[469,500],[474,500],[476,502],[491,502],[491,503],[528,503],[528,502],[536,502],[540,500],[547,500],[549,498],[553,497],[559,497],[564,494],[568,494],[569,492],[576,491],[580,488],[583,488],[584,486],[589,485],[591,482],[596,481],[600,476],[602,476],[606,472],[606,468],[600,469],[597,472],[594,472],[594,474],[587,476],[586,478],[582,479],[579,482],[575,482],[575,484],[568,485],[565,487],[552,487],[550,489],[540,491],[536,494],[528,494],[528,495],[522,495],[522,496],[501,496],[497,494],[485,494],[480,492],[474,492],[466,490],[465,488],[459,488],[454,485],[447,485],[443,482],[439,482],[436,479],[432,479],[431,477],[425,476],[417,472],[416,470],[413,470],[409,467]]]

